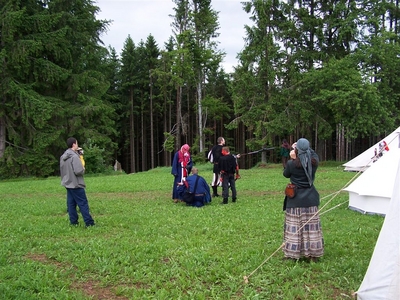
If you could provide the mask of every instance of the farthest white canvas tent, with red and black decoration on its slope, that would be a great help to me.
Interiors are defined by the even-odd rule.
[[[370,147],[369,149],[365,150],[360,155],[356,156],[352,160],[349,160],[347,163],[343,164],[345,167],[345,171],[364,171],[371,165],[373,165],[373,157],[375,154],[375,149],[379,151],[379,144],[385,141],[388,144],[389,152],[392,148],[398,148],[398,139],[396,137],[400,133],[400,127],[394,130],[391,134],[386,136],[384,139],[380,140],[378,143]],[[383,153],[385,155],[386,152]]]

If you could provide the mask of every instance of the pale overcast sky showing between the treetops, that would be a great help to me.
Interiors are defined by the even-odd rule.
[[[228,73],[237,65],[237,53],[243,49],[244,26],[252,24],[241,1],[211,2],[212,9],[218,12],[218,48],[226,53],[223,67]],[[137,45],[141,40],[145,42],[149,34],[152,34],[160,49],[164,49],[164,43],[172,35],[170,24],[173,18],[169,16],[174,14],[175,4],[172,0],[97,0],[95,5],[101,10],[98,19],[112,20],[108,32],[101,39],[106,47],[114,47],[118,55],[128,35]]]

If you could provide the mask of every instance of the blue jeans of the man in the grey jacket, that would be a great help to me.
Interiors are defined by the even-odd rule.
[[[72,225],[78,224],[76,206],[79,207],[86,226],[94,225],[93,218],[89,213],[89,203],[87,201],[85,189],[83,188],[67,189],[67,207],[69,221]]]

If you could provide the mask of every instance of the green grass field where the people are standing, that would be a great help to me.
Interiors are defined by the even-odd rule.
[[[198,168],[210,181],[211,165]],[[241,175],[237,203],[203,208],[172,202],[170,168],[87,176],[97,224],[87,229],[69,226],[59,178],[0,182],[2,299],[351,299],[383,223],[349,210],[347,192],[329,196],[355,173],[334,163],[317,172],[328,203],[317,263],[283,261],[278,250],[281,166]]]

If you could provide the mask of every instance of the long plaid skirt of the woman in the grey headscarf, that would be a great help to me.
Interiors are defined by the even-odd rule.
[[[285,257],[317,258],[324,254],[324,238],[317,206],[286,209],[284,243]]]

